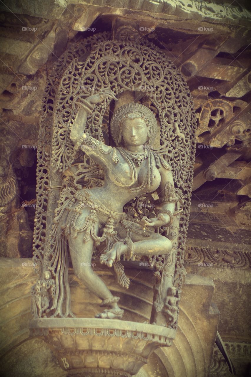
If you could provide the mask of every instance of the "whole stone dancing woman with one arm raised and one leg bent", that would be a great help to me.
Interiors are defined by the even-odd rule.
[[[95,246],[104,243],[100,262],[121,268],[122,256],[152,256],[171,251],[171,241],[155,232],[156,227],[170,226],[177,201],[171,166],[150,145],[156,137],[157,121],[150,109],[138,103],[119,107],[110,129],[116,147],[107,146],[84,133],[87,116],[94,105],[105,98],[116,99],[111,92],[100,92],[83,100],[72,125],[70,138],[75,148],[82,149],[104,170],[104,184],[92,189],[80,189],[61,201],[56,222],[67,237],[74,273],[108,308],[97,318],[121,319],[124,313],[104,281],[92,270]],[[140,223],[128,221],[124,205],[145,193],[157,191],[157,217],[144,217]],[[55,222],[55,220],[54,220]],[[86,267],[81,267],[83,264]],[[121,271],[120,271],[121,272]],[[121,285],[128,286],[124,278]]]

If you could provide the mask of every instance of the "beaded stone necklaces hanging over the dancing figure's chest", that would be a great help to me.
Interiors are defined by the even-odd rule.
[[[143,179],[142,184],[138,187],[134,187],[130,189],[130,191],[133,193],[137,193],[143,190],[145,186],[147,186],[147,188],[150,189],[151,185],[153,185],[153,178],[154,178],[153,177],[153,158],[152,158],[151,150],[147,148],[144,153],[132,153],[121,147],[118,147],[118,150],[130,167],[133,181],[137,181],[138,179],[137,171],[135,169],[135,164],[140,166],[142,162],[144,161],[144,159],[147,158],[147,161],[148,161],[147,172],[145,174],[145,178]]]

